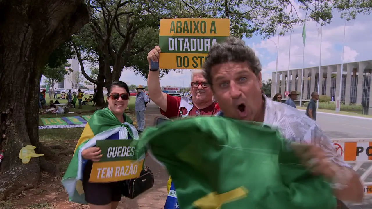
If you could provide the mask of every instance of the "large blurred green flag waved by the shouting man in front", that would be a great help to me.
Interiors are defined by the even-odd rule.
[[[324,177],[299,164],[290,142],[262,124],[198,117],[148,128],[136,142],[167,168],[180,209],[336,207]]]

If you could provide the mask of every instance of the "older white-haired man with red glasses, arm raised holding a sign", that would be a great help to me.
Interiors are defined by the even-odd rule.
[[[151,69],[151,61],[158,62],[161,50],[155,46],[147,55],[149,72],[147,88],[151,100],[160,107],[160,112],[167,118],[189,118],[190,116],[210,115],[219,112],[217,102],[213,100],[212,90],[203,77],[202,70],[192,70],[191,96],[170,96],[161,91],[159,71]]]

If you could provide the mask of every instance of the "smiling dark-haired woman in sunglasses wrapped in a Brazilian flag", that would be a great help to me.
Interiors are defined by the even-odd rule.
[[[96,143],[94,140],[138,139],[138,132],[133,126],[132,120],[124,113],[129,102],[128,85],[122,81],[113,82],[109,88],[107,102],[108,108],[97,110],[92,115],[92,118],[89,119],[81,134],[74,154],[76,155],[76,153],[79,153],[80,149],[82,150],[81,157],[83,158],[83,168],[80,170],[83,170],[81,181],[85,200],[83,198],[79,199],[81,196],[80,194],[76,196],[74,191],[70,193],[67,190],[70,195],[70,201],[88,203],[91,209],[116,209],[121,200],[123,186],[120,181],[109,183],[89,182],[93,162],[100,161],[102,157],[101,149],[95,146]],[[98,137],[100,138],[96,139]],[[87,140],[89,141],[86,142]],[[88,143],[90,144],[88,145]],[[73,160],[71,162],[73,162]],[[69,171],[70,166],[71,163],[67,171]],[[80,179],[79,176],[77,176],[76,179]],[[64,183],[62,179],[62,184],[64,184],[67,189],[69,185],[67,181],[65,182],[66,183]],[[74,199],[74,197],[77,198]]]

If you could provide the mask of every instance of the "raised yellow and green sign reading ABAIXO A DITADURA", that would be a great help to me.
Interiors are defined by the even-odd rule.
[[[230,36],[230,19],[161,19],[159,68],[202,69],[209,49]]]

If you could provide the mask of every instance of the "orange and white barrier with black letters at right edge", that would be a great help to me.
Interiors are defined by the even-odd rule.
[[[372,194],[372,182],[366,181],[372,173],[372,138],[361,139],[331,139],[338,154],[344,161],[353,165],[355,171],[363,171],[360,179],[364,184],[365,194]],[[363,164],[367,166],[363,166]]]

